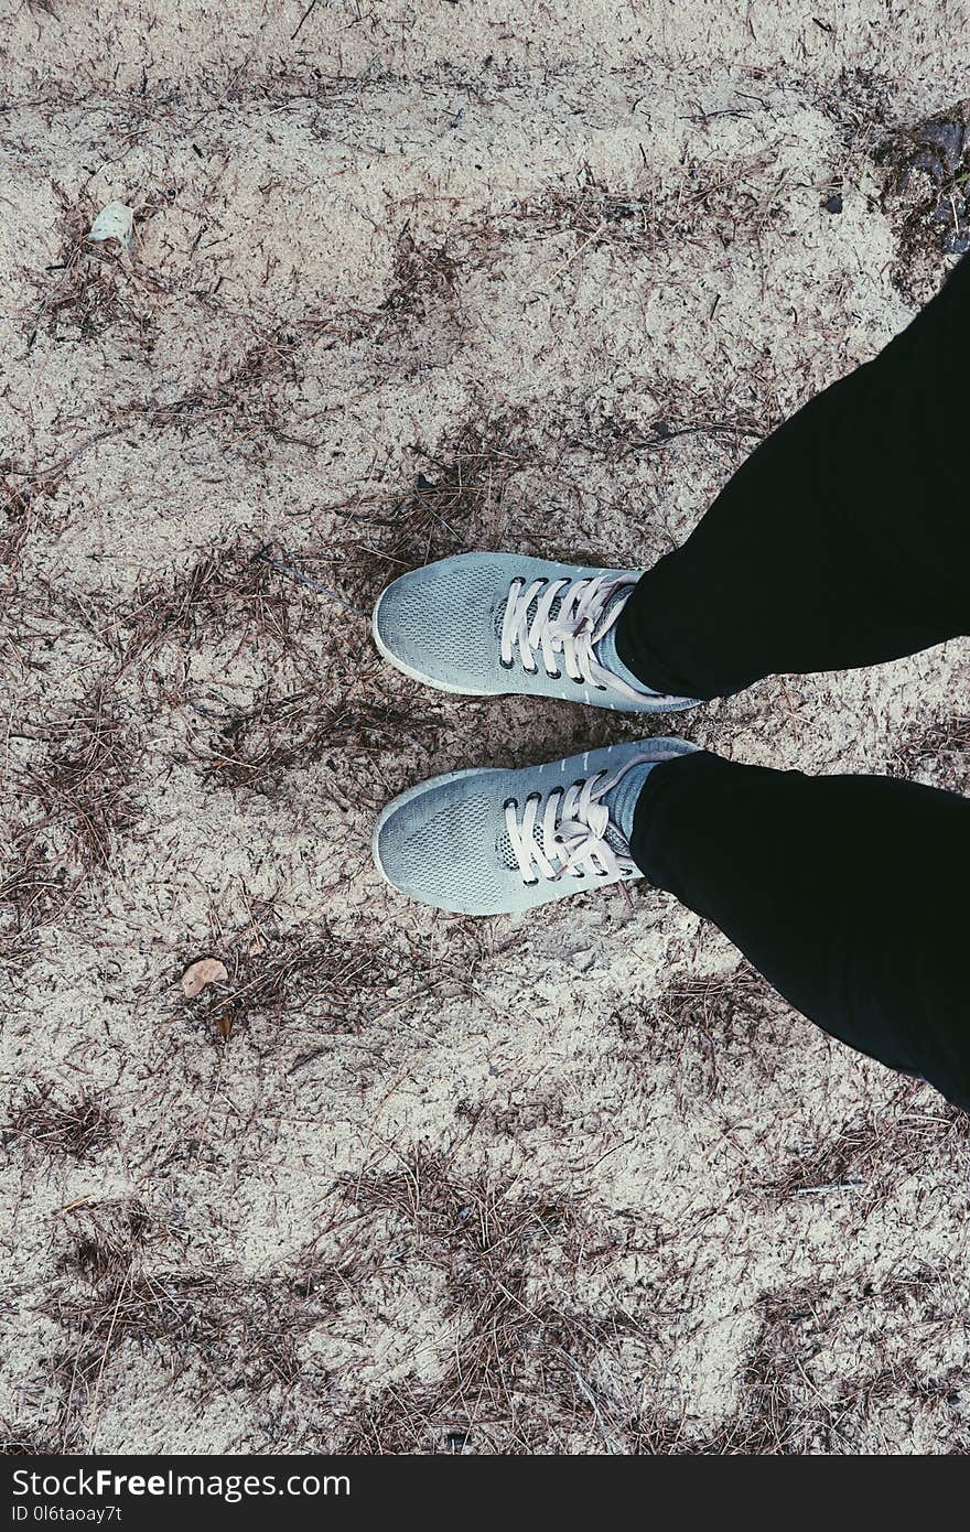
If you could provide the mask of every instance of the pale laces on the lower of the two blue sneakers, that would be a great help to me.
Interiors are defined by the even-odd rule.
[[[650,760],[654,757],[634,755],[613,777],[598,771],[569,787],[553,787],[544,806],[542,795],[532,792],[521,806],[521,824],[519,804],[509,798],[506,829],[523,882],[538,882],[539,878],[555,882],[564,873],[622,878],[636,872],[628,850],[618,850],[607,840],[610,810],[602,800],[633,766]]]

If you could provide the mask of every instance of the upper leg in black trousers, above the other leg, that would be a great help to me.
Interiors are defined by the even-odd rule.
[[[616,653],[716,697],[970,633],[970,257],[903,334],[763,441],[644,574]]]

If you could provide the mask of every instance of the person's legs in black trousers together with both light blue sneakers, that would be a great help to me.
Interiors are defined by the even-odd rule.
[[[521,559],[509,570],[470,555],[389,587],[374,619],[378,648],[449,691],[650,711],[970,633],[959,458],[967,342],[970,264],[877,362],[759,447],[688,542],[628,599],[622,593],[616,617],[607,604],[624,571],[523,571]],[[613,622],[604,643],[614,634],[631,671],[624,682],[667,696],[644,699],[636,685],[618,692],[587,631],[593,619],[546,613],[533,578],[567,587],[584,611],[599,602],[593,628]],[[539,645],[550,651],[549,679],[532,654]],[[478,671],[457,676],[469,656]],[[587,769],[596,774],[592,797],[572,780]],[[887,778],[736,766],[708,752],[654,758],[639,798],[618,787],[613,801],[604,786],[611,769],[584,755],[521,783],[501,772],[435,778],[388,806],[377,864],[414,898],[500,913],[575,892],[579,884],[562,876],[567,855],[570,866],[592,856],[588,876],[627,876],[628,847],[634,870],[714,921],[821,1028],[970,1109],[968,801]],[[630,784],[642,768],[624,769]],[[506,826],[509,815],[515,824]],[[533,841],[541,876],[527,866]]]

